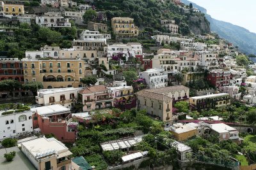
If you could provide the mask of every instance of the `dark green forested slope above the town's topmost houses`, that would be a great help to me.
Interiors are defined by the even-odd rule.
[[[166,1],[157,0],[95,0],[97,10],[106,11],[108,20],[113,17],[131,17],[140,29],[164,31],[160,25],[161,19],[175,20],[179,25],[180,34],[207,33],[209,23],[203,13],[183,14],[179,6]],[[198,17],[198,20],[195,20]]]

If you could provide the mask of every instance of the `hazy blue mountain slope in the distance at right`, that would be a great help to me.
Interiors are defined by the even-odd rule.
[[[182,0],[184,4],[192,3],[188,0]],[[202,6],[198,6],[195,3],[192,3],[194,7],[198,8],[198,10],[205,13],[205,17],[210,22],[211,31],[217,32],[221,38],[227,39],[234,45],[239,47],[241,52],[250,54],[256,53],[256,34],[248,31],[243,27],[230,24],[228,22],[223,22],[221,20],[216,20],[211,17],[211,15],[207,14],[207,10]],[[232,8],[232,7],[230,7]]]

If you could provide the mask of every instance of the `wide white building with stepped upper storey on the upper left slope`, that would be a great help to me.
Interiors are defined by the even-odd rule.
[[[61,17],[59,13],[44,13],[42,17],[35,17],[36,24],[42,27],[71,27],[68,18]]]

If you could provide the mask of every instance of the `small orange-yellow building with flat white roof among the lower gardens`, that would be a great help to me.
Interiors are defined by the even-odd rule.
[[[173,124],[169,130],[177,141],[186,141],[187,139],[198,135],[198,130],[195,127],[186,124]]]

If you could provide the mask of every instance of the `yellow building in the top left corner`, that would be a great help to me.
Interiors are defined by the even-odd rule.
[[[4,12],[5,15],[20,16],[24,14],[23,4],[4,4],[0,1],[0,10]]]

